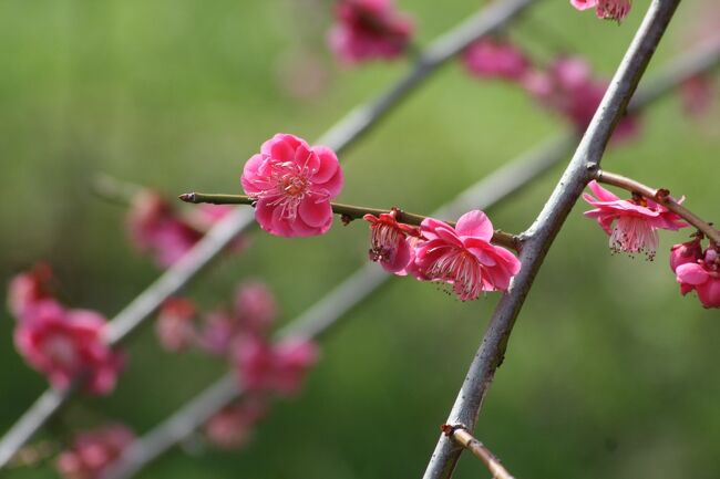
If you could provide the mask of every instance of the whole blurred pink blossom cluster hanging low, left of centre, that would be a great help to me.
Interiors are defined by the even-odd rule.
[[[189,300],[173,298],[160,311],[156,333],[166,350],[194,346],[227,358],[246,392],[241,400],[218,412],[205,425],[206,436],[219,447],[243,446],[255,424],[267,414],[268,399],[297,394],[317,361],[318,351],[310,341],[268,340],[276,316],[275,299],[259,282],[241,284],[232,308],[200,315]]]

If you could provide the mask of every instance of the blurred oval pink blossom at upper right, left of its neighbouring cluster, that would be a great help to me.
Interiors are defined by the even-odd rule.
[[[467,71],[481,79],[522,80],[528,72],[528,58],[510,42],[482,38],[463,52]]]

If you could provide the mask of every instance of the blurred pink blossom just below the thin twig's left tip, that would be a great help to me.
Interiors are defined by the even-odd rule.
[[[138,251],[152,256],[160,267],[169,267],[230,209],[228,205],[199,205],[188,211],[177,211],[157,191],[143,189],[131,201],[127,230]],[[232,249],[237,251],[243,246],[240,238]]]

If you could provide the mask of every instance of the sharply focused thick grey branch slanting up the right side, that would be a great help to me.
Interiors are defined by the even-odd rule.
[[[655,53],[680,0],[652,0],[632,43],[610,82],[573,159],[553,194],[523,236],[522,269],[501,299],[470,371],[460,388],[448,424],[467,425],[472,430],[495,371],[503,362],[515,320],[535,275],[565,219],[594,173],[599,168],[610,135],[620,121],[640,77]],[[441,435],[424,479],[452,477],[463,448]]]

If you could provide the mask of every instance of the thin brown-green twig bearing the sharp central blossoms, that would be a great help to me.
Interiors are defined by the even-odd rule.
[[[206,192],[186,192],[179,195],[178,198],[185,202],[193,204],[207,202],[212,205],[249,205],[253,207],[257,201],[256,199],[246,195],[216,195]],[[342,218],[348,221],[361,219],[366,215],[380,216],[391,212],[390,209],[368,208],[364,206],[343,205],[340,202],[331,202],[330,206],[332,207],[332,211],[336,215],[342,216]],[[395,218],[398,221],[404,222],[407,225],[420,226],[420,223],[422,223],[422,221],[428,218],[425,216],[407,212],[401,209],[395,209]],[[452,227],[455,226],[455,223],[452,221],[445,222]],[[495,230],[492,241],[506,248],[514,249],[515,251],[520,251],[521,248],[521,240],[518,237],[501,230]]]

